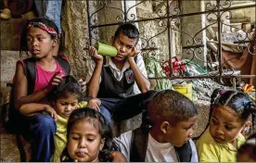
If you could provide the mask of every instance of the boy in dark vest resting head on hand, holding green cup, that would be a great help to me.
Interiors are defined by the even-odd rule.
[[[111,38],[111,45],[117,50],[117,55],[106,55],[91,46],[89,55],[95,60],[95,68],[89,70],[88,95],[101,100],[101,106],[92,104],[107,119],[123,120],[140,113],[139,102],[143,101],[149,90],[150,83],[143,57],[139,54],[136,44],[139,31],[131,24],[122,24]],[[100,55],[99,55],[100,54]],[[134,86],[142,94],[134,95]],[[147,96],[147,95],[146,95]],[[127,98],[129,97],[129,98]],[[129,106],[127,104],[133,104]],[[127,112],[124,116],[122,113]]]

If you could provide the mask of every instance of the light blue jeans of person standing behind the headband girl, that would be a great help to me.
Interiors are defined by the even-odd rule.
[[[62,0],[34,0],[39,17],[51,19],[61,33],[60,17]]]

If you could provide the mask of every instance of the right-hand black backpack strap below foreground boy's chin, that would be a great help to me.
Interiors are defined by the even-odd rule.
[[[178,162],[190,162],[192,157],[192,149],[189,141],[181,147],[174,147]]]

